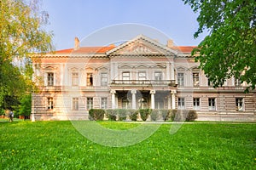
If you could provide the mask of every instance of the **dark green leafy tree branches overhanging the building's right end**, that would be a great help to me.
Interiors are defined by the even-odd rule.
[[[192,51],[195,61],[215,88],[235,77],[256,84],[256,2],[255,0],[183,0],[198,12],[199,28],[208,36]]]

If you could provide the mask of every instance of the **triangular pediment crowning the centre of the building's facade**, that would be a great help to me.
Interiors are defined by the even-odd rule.
[[[108,55],[176,55],[177,52],[171,48],[156,42],[155,40],[145,37],[143,35],[137,36],[134,39],[111,49]]]

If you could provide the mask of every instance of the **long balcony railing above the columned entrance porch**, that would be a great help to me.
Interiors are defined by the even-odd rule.
[[[111,86],[125,85],[125,86],[172,86],[176,87],[175,80],[113,80]]]

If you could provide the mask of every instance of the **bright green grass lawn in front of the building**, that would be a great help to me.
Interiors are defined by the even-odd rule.
[[[189,123],[172,135],[171,126],[138,144],[107,147],[72,122],[0,122],[0,169],[256,169],[256,123]]]

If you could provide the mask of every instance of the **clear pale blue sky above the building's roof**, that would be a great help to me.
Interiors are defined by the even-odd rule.
[[[56,49],[73,48],[74,37],[81,40],[102,28],[125,23],[154,28],[177,45],[198,45],[205,37],[205,34],[193,37],[198,27],[197,14],[182,0],[42,0],[42,3],[49,13],[47,30],[54,32]],[[152,39],[158,38],[147,35],[143,29],[140,31]]]

